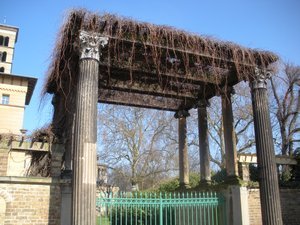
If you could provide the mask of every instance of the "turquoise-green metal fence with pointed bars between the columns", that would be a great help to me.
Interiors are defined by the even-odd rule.
[[[226,225],[216,193],[118,193],[97,199],[97,225]]]

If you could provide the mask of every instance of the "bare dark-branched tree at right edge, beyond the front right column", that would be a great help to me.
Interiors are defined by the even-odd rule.
[[[284,64],[282,71],[271,78],[271,92],[272,112],[278,122],[274,129],[276,143],[282,155],[291,156],[295,143],[300,143],[300,67]]]

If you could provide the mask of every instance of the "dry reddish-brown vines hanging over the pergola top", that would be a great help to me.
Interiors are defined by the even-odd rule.
[[[198,77],[214,81],[224,88],[224,71],[234,71],[237,80],[250,80],[255,67],[262,69],[278,57],[270,52],[244,48],[230,42],[190,34],[166,26],[140,23],[110,14],[98,15],[86,10],[71,11],[61,28],[44,92],[68,98],[74,90],[79,71],[79,32],[97,32],[110,38],[102,56],[110,68],[150,72],[161,80],[163,74]],[[184,82],[181,81],[180,82]],[[229,84],[231,85],[231,84]],[[222,87],[223,86],[223,87]]]

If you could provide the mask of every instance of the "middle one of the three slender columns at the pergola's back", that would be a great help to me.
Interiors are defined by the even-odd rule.
[[[210,184],[210,152],[208,142],[208,124],[207,124],[207,100],[198,103],[198,129],[199,129],[199,153],[200,153],[200,183]]]

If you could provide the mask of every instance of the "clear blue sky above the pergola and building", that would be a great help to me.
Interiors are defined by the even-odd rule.
[[[282,61],[300,65],[299,0],[2,0],[0,23],[19,27],[12,73],[38,78],[25,110],[24,128],[29,131],[51,122],[51,97],[41,101],[41,90],[57,33],[73,8],[272,51]]]

